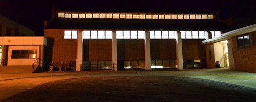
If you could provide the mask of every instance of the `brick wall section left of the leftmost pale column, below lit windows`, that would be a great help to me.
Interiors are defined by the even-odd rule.
[[[45,30],[45,37],[53,38],[52,61],[54,63],[76,61],[77,40],[64,39],[64,30]]]

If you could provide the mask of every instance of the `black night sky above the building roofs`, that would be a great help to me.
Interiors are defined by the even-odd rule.
[[[245,2],[246,1],[246,2]],[[0,14],[43,36],[44,21],[51,19],[52,7],[63,11],[215,13],[229,17],[255,17],[255,0],[0,0]]]

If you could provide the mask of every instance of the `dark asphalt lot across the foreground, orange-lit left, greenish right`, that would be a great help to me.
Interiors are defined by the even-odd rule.
[[[1,101],[255,101],[256,77],[228,69],[0,75]]]

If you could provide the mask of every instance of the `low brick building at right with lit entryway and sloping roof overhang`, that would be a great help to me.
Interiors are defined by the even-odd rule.
[[[221,66],[231,70],[256,73],[256,24],[202,42],[206,46],[207,68],[214,68],[219,60]]]

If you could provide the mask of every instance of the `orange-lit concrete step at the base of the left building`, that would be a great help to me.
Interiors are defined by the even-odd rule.
[[[36,66],[34,70],[36,69]],[[32,65],[14,65],[14,66],[0,66],[1,74],[10,73],[32,73]]]

